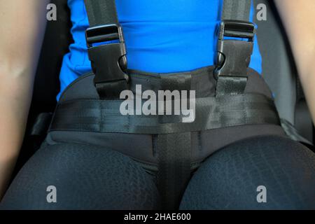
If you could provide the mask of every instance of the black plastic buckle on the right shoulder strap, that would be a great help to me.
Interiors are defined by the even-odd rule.
[[[251,22],[223,20],[218,27],[218,45],[214,77],[245,76],[251,55],[255,25]],[[225,39],[225,37],[247,38],[247,41]]]

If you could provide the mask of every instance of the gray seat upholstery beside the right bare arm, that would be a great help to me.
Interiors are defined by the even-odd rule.
[[[262,54],[262,73],[272,92],[281,118],[313,141],[313,125],[300,88],[290,44],[273,1],[254,0],[254,6],[267,6],[267,20],[258,21],[258,43]]]

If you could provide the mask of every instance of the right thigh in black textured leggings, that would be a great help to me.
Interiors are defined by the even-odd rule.
[[[255,137],[211,155],[181,209],[315,209],[315,154],[283,137]]]

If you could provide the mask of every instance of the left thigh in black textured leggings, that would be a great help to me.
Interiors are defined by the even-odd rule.
[[[159,209],[151,175],[134,160],[96,146],[43,147],[22,168],[2,209]]]

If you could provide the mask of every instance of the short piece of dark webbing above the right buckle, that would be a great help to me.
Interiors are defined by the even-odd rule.
[[[251,0],[224,0],[221,20],[249,21]]]

